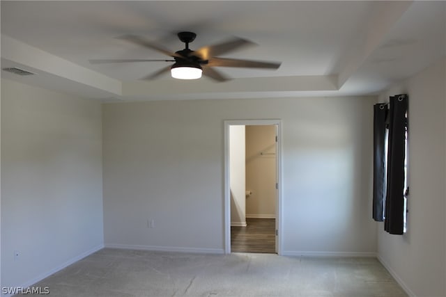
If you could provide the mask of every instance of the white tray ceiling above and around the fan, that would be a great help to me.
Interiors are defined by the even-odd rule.
[[[257,44],[224,55],[281,61],[278,70],[220,68],[233,80],[169,75],[166,62],[91,65],[95,58],[169,58],[116,37],[144,35],[176,51],[232,36]],[[369,95],[446,56],[445,1],[1,1],[1,67],[15,79],[110,100]]]

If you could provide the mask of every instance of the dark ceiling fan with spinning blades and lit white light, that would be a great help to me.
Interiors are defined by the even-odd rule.
[[[193,32],[180,32],[177,34],[181,42],[185,43],[185,49],[180,51],[169,51],[164,47],[157,45],[155,42],[146,40],[138,35],[124,35],[121,37],[123,40],[127,40],[137,45],[154,49],[162,54],[170,56],[173,59],[170,60],[154,60],[154,59],[93,59],[89,60],[92,64],[100,63],[128,63],[128,62],[174,62],[173,65],[163,67],[157,72],[149,74],[142,79],[156,79],[160,75],[171,71],[171,76],[175,79],[199,79],[201,74],[215,81],[227,81],[228,77],[215,70],[213,67],[243,67],[243,68],[265,68],[265,69],[277,69],[281,63],[268,62],[268,61],[252,61],[252,60],[240,60],[233,58],[218,58],[216,55],[225,54],[229,51],[239,49],[248,45],[254,45],[253,42],[245,40],[243,38],[233,38],[231,40],[219,43],[217,45],[210,45],[201,47],[197,50],[189,48],[190,42],[194,41],[197,34]]]

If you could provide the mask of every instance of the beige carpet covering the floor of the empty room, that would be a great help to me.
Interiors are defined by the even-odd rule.
[[[36,286],[49,287],[49,296],[406,296],[374,258],[198,255],[110,248]]]

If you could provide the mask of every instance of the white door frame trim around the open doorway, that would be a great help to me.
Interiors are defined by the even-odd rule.
[[[282,255],[282,121],[281,120],[225,120],[224,121],[224,252],[231,253],[231,188],[229,176],[229,127],[244,126],[277,126],[277,255]]]

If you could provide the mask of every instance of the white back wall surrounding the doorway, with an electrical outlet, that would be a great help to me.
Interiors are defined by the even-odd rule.
[[[105,244],[224,251],[224,120],[282,119],[285,254],[370,255],[376,97],[103,105]],[[154,228],[147,220],[154,219]]]

